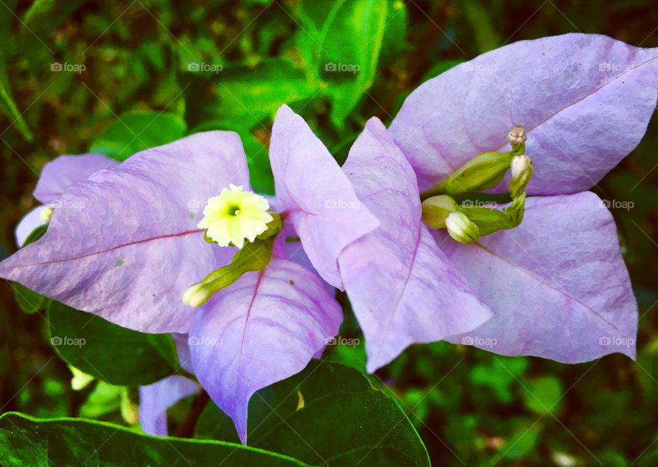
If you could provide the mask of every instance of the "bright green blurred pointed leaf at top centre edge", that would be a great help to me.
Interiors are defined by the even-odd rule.
[[[339,128],[375,79],[388,3],[337,1],[317,37],[320,75],[329,84],[332,101],[331,121]]]

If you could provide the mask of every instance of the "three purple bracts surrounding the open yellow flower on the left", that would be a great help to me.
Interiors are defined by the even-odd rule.
[[[341,286],[337,258],[378,226],[304,120],[279,110],[270,146],[273,200],[317,272]],[[315,271],[280,247],[199,309],[186,288],[231,261],[206,242],[204,205],[249,190],[237,134],[208,131],[147,149],[66,188],[45,236],[0,264],[0,277],[143,332],[189,333],[193,369],[246,441],[247,402],[289,377],[335,336],[341,307]],[[354,222],[354,218],[359,221]],[[277,242],[284,238],[277,238]]]

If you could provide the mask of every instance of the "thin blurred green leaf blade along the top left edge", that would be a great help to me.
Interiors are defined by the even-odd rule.
[[[0,14],[0,111],[12,121],[12,126],[16,127],[16,130],[19,131],[23,138],[32,141],[32,131],[29,131],[27,123],[25,123],[21,112],[16,107],[7,74],[9,47],[11,43],[10,33],[16,3],[18,3],[18,0],[6,0],[4,5],[0,5],[2,9],[2,14]]]

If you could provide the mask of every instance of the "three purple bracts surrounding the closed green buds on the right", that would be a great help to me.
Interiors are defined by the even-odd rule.
[[[635,356],[637,304],[616,227],[596,194],[580,191],[642,138],[656,105],[657,58],[657,49],[604,36],[517,42],[417,88],[387,131],[369,121],[344,170],[381,227],[339,264],[370,371],[413,342],[439,338],[568,363]],[[478,153],[509,148],[517,124],[535,162],[526,190],[545,196],[528,197],[520,227],[474,244],[444,230],[430,238],[419,192]]]

